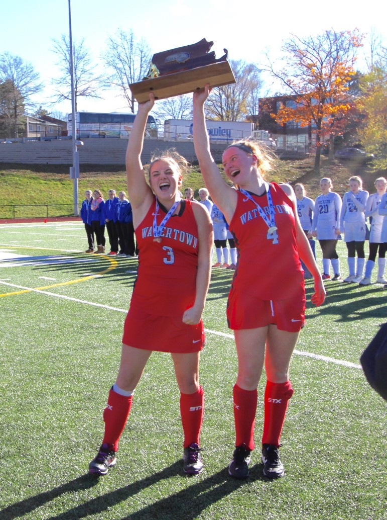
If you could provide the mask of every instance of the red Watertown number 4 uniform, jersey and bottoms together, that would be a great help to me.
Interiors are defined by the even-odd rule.
[[[267,193],[261,196],[250,194],[269,216]],[[271,302],[271,307],[267,306],[268,313],[276,301],[283,302],[277,308],[279,314],[283,309],[288,313],[289,308],[297,307],[294,316],[288,318],[290,328],[284,330],[299,330],[298,326],[302,327],[305,320],[305,284],[297,251],[294,206],[278,184],[270,183],[270,194],[278,229],[268,236],[268,225],[259,215],[257,206],[237,191],[237,207],[229,229],[238,249],[239,261],[227,306],[229,327],[234,330],[263,326],[261,323],[243,324],[243,315],[260,313],[259,300]],[[254,308],[254,301],[258,307]]]

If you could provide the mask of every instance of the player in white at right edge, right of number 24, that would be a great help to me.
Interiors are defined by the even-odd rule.
[[[365,216],[369,218],[370,233],[369,233],[369,256],[366,263],[364,278],[359,282],[360,285],[370,285],[372,269],[375,266],[376,255],[379,250],[378,258],[378,278],[377,283],[387,283],[384,278],[385,269],[385,245],[381,239],[383,216],[379,215],[379,206],[387,188],[387,180],[384,177],[379,177],[375,181],[376,193],[372,193],[368,197],[366,204]]]

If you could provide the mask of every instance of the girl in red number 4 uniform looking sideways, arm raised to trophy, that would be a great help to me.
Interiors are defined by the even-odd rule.
[[[280,438],[293,388],[289,364],[305,321],[305,287],[300,259],[314,277],[312,302],[321,305],[324,284],[309,241],[302,231],[293,189],[267,183],[267,155],[253,141],[226,148],[225,183],[211,156],[205,128],[204,102],[209,85],[193,94],[193,142],[205,185],[229,223],[239,252],[228,298],[227,319],[234,330],[238,378],[233,389],[236,449],[229,474],[248,476],[254,449],[257,386],[264,367],[267,376],[262,436],[264,475],[281,477]]]

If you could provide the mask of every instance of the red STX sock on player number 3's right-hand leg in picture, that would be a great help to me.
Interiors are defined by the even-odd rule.
[[[200,446],[200,430],[204,413],[204,392],[201,386],[193,394],[180,394],[180,413],[184,432],[184,448],[192,443]]]

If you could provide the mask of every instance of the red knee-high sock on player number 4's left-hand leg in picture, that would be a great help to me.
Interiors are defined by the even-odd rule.
[[[233,389],[234,421],[236,440],[235,445],[246,445],[249,450],[254,449],[255,413],[257,411],[257,390],[243,390],[237,384]]]

